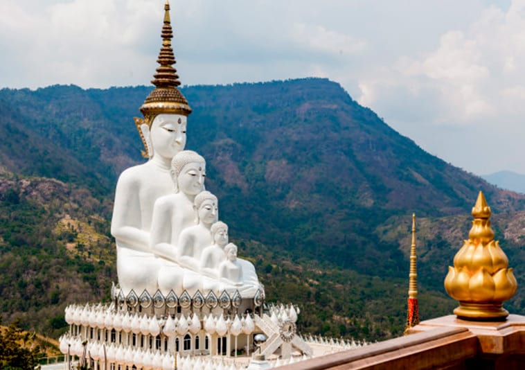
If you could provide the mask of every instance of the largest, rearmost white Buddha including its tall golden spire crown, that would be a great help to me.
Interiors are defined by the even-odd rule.
[[[112,218],[116,239],[118,282],[124,294],[157,289],[157,258],[150,249],[153,205],[174,191],[170,163],[186,144],[186,118],[191,109],[177,89],[180,85],[171,47],[172,29],[166,8],[162,28],[160,67],[152,81],[155,89],[141,106],[144,118],[135,124],[145,146],[145,164],[127,168],[118,178]]]

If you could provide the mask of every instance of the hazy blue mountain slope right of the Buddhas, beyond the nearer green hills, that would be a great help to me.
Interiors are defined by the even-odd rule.
[[[328,80],[190,87],[188,147],[243,238],[291,256],[402,276],[407,261],[375,227],[390,215],[468,213],[483,190],[495,211],[525,197],[429,155]],[[243,205],[246,206],[243,206]],[[363,251],[366,250],[366,253]]]

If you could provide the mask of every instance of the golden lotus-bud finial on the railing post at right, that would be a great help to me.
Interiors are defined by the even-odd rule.
[[[472,229],[449,267],[445,290],[459,301],[454,313],[469,320],[503,320],[503,302],[512,298],[517,281],[490,228],[490,207],[480,191],[472,209]]]

